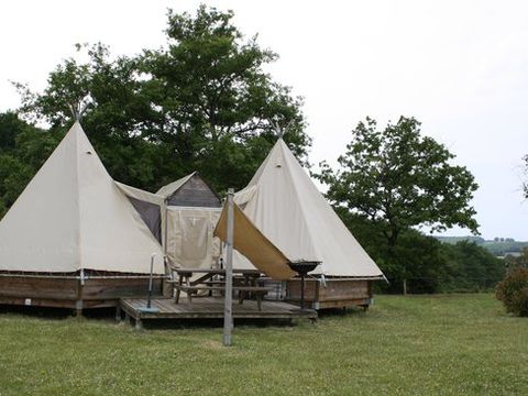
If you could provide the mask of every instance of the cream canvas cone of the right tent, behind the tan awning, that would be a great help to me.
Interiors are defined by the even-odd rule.
[[[290,261],[320,261],[312,274],[384,278],[283,139],[234,200]],[[248,262],[239,256],[235,265]]]

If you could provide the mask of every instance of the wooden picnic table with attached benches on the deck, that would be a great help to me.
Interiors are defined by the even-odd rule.
[[[193,302],[193,295],[199,292],[226,293],[226,270],[223,268],[172,268],[173,275],[176,274],[177,280],[168,280],[173,285],[174,301],[179,304],[182,292],[187,294],[188,302]],[[195,275],[201,275],[191,279]],[[243,304],[245,298],[253,296],[256,298],[258,310],[262,309],[263,297],[271,292],[272,287],[264,287],[258,282],[261,273],[256,270],[233,270],[233,292],[239,293],[239,304]]]

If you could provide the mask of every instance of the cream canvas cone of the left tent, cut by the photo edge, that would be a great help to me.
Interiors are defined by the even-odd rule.
[[[164,273],[160,243],[76,122],[0,222],[0,271]]]

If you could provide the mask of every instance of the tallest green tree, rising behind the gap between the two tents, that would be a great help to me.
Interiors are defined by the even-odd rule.
[[[199,168],[220,189],[249,180],[275,141],[272,122],[289,125],[286,139],[299,157],[310,144],[300,100],[263,70],[277,55],[256,36],[244,40],[232,18],[205,6],[194,18],[169,12],[167,47],[141,58],[162,121],[156,136],[186,172]]]

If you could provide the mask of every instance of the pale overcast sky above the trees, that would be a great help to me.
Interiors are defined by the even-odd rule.
[[[528,153],[526,1],[202,1],[235,13],[244,34],[279,54],[268,68],[305,98],[310,161],[334,163],[366,116],[414,116],[475,175],[484,238],[528,240],[521,157]],[[0,111],[16,108],[9,80],[45,87],[74,44],[112,54],[165,43],[166,10],[200,1],[0,2]],[[452,230],[448,234],[466,234]]]

